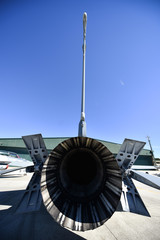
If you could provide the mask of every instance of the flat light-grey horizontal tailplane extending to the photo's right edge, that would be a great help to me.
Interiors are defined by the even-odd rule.
[[[131,170],[133,179],[142,182],[150,187],[160,189],[160,178],[147,173]]]

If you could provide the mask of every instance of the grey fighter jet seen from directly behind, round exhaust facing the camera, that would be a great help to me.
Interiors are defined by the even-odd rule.
[[[100,141],[86,136],[86,24],[84,13],[78,137],[61,142],[49,155],[41,134],[22,137],[34,162],[34,174],[16,209],[16,213],[39,211],[43,204],[56,222],[76,231],[101,226],[116,210],[150,216],[132,178],[160,189],[158,177],[132,169],[145,142],[125,139],[115,157]]]

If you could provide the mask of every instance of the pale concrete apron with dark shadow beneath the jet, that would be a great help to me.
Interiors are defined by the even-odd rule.
[[[160,176],[160,171],[149,172]],[[14,214],[10,207],[17,204],[32,174],[0,177],[0,239],[19,240],[160,240],[160,191],[134,181],[151,217],[128,212],[115,212],[101,227],[86,232],[64,229],[47,211]]]

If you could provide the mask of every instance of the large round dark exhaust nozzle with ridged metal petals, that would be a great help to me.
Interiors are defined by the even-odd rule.
[[[95,139],[70,138],[54,148],[43,165],[43,202],[63,227],[85,231],[101,226],[115,212],[121,191],[118,164]]]

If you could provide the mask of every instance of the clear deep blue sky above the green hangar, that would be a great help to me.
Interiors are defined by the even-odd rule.
[[[0,137],[78,134],[88,14],[87,136],[160,157],[160,1],[0,2]],[[148,143],[145,148],[149,148]]]

